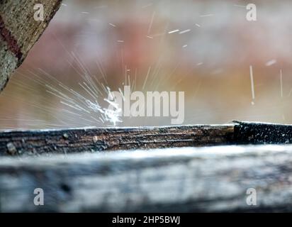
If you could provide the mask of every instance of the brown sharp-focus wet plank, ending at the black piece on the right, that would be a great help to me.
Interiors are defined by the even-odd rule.
[[[40,155],[231,144],[234,124],[1,131],[1,155]]]

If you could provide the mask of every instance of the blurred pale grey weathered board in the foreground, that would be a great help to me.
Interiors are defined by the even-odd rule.
[[[291,173],[291,145],[1,157],[0,211],[292,211]]]

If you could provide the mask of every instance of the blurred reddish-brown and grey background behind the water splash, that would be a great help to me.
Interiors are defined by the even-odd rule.
[[[111,126],[81,96],[99,96],[106,107],[106,91],[125,84],[185,92],[184,124],[292,123],[292,2],[258,0],[257,21],[247,21],[247,4],[63,1],[0,94],[0,128]],[[118,126],[170,124],[167,117],[121,120]]]

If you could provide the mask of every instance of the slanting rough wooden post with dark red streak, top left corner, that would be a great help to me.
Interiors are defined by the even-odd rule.
[[[33,18],[35,4],[43,4],[44,21]],[[0,1],[0,92],[45,31],[60,4],[61,0]]]

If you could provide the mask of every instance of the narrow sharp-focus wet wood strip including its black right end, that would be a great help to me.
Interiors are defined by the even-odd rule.
[[[0,156],[291,142],[291,125],[241,121],[225,125],[9,130],[0,131]]]

